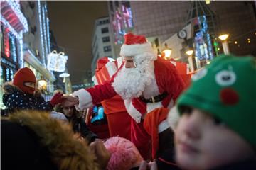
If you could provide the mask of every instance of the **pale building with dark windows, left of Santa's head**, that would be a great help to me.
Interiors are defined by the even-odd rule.
[[[114,57],[113,43],[110,34],[110,20],[108,17],[95,20],[92,33],[92,74],[95,74],[97,60],[101,57]]]

